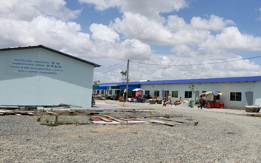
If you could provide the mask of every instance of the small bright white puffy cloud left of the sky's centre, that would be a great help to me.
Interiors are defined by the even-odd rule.
[[[119,41],[119,34],[108,28],[106,25],[93,23],[90,26],[90,31],[93,33],[94,40],[106,40],[108,42]]]

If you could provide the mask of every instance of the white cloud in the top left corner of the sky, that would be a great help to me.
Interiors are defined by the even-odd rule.
[[[81,10],[70,10],[64,0],[8,0],[1,1],[0,17],[31,21],[38,16],[53,16],[61,20],[76,18]]]

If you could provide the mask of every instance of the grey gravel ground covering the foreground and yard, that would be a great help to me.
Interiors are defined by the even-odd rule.
[[[120,105],[120,102],[106,101]],[[46,126],[39,116],[0,116],[0,162],[260,162],[261,118],[132,104],[199,125]],[[55,116],[43,116],[53,120]],[[86,116],[62,116],[86,121]],[[174,123],[174,122],[169,122]]]

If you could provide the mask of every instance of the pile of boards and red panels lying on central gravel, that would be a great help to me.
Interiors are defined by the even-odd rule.
[[[164,115],[151,115],[151,116],[145,116],[143,119],[138,119],[138,118],[133,118],[130,116],[108,116],[108,115],[103,115],[104,117],[101,116],[96,116],[96,117],[89,117],[89,120],[92,121],[93,124],[103,124],[103,125],[128,125],[128,124],[153,124],[153,125],[168,125],[168,126],[176,126],[176,125],[197,125],[198,122],[185,122],[185,121],[176,121],[173,119],[166,119],[163,118],[162,116]],[[142,116],[139,116],[142,117]],[[159,120],[146,120],[144,118],[146,117],[151,117],[153,119],[161,119],[164,121],[159,121]],[[159,118],[156,118],[159,117]],[[185,117],[182,115],[170,115],[169,117]],[[168,123],[165,121],[175,121],[177,123]],[[181,123],[181,124],[180,124]]]

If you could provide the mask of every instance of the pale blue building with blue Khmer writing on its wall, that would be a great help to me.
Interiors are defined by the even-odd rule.
[[[90,107],[95,63],[46,46],[0,48],[1,105]]]

